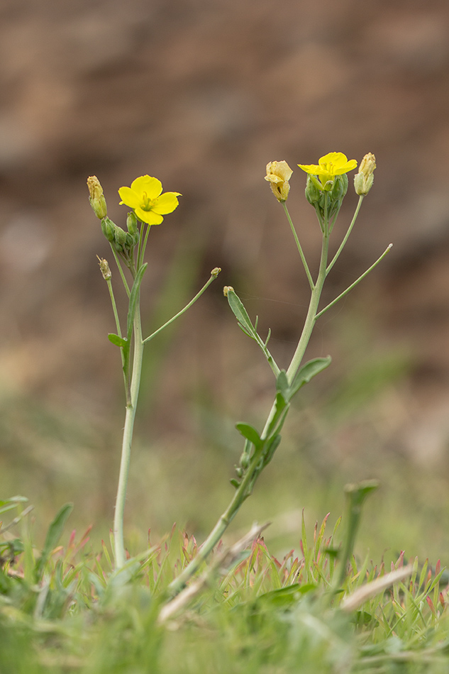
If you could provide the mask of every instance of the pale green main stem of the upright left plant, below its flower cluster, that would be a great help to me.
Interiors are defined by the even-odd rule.
[[[142,372],[143,341],[142,326],[140,323],[139,300],[135,308],[133,327],[133,375],[131,377],[130,401],[126,405],[125,427],[123,429],[123,442],[121,448],[120,473],[118,475],[116,509],[113,519],[113,540],[117,569],[121,568],[126,562],[126,551],[123,541],[123,516],[125,512],[126,487],[128,485],[129,464],[131,459],[131,443],[133,440],[135,410],[137,407],[140,375]]]

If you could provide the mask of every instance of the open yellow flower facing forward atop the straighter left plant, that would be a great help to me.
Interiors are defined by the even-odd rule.
[[[160,225],[162,216],[172,213],[178,206],[179,192],[164,192],[162,182],[149,175],[141,175],[131,183],[131,187],[121,187],[118,190],[121,204],[133,209],[135,216],[149,225]]]

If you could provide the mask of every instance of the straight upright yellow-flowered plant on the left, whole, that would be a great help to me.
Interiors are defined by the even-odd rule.
[[[118,316],[116,301],[112,289],[111,270],[109,264],[104,258],[99,258],[100,270],[106,281],[111,296],[114,318],[116,320],[116,333],[109,335],[109,340],[120,347],[121,360],[123,366],[123,379],[126,392],[126,416],[125,426],[123,428],[123,441],[121,449],[120,472],[118,475],[118,488],[116,497],[116,508],[113,521],[113,540],[114,557],[116,568],[123,567],[126,562],[126,550],[123,538],[123,516],[125,512],[126,487],[128,484],[129,464],[131,458],[131,441],[133,438],[133,427],[135,419],[135,410],[137,408],[138,394],[140,387],[140,375],[142,372],[143,347],[145,343],[155,337],[164,328],[169,326],[175,319],[184,314],[196,299],[198,299],[204,290],[216,279],[221,271],[216,267],[211,271],[211,277],[204,284],[204,287],[195,295],[195,297],[184,306],[175,316],[158,328],[150,336],[143,338],[142,326],[140,321],[140,284],[143,280],[145,269],[148,266],[144,262],[145,248],[148,241],[150,228],[153,225],[160,225],[165,215],[172,213],[177,208],[179,201],[179,192],[165,192],[162,194],[162,182],[149,175],[141,175],[133,180],[131,187],[121,187],[118,194],[121,197],[121,204],[126,204],[131,209],[126,217],[126,230],[119,227],[107,216],[106,199],[104,198],[103,188],[96,176],[90,176],[87,179],[89,188],[89,202],[94,214],[101,221],[101,231],[111,244],[111,249],[118,271],[120,272],[123,285],[129,298],[128,316],[126,319],[126,329],[122,330],[121,322]],[[125,263],[131,273],[132,285],[128,285],[125,272],[121,266],[121,261]],[[132,346],[132,351],[131,351]],[[132,357],[131,357],[132,355]]]

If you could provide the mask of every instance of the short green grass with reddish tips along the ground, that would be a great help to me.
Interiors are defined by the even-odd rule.
[[[439,673],[449,666],[445,570],[415,558],[405,578],[358,597],[406,561],[401,553],[390,568],[350,553],[346,565],[350,509],[329,531],[327,516],[311,530],[303,521],[299,550],[283,558],[262,536],[237,548],[222,543],[190,595],[178,595],[180,605],[167,613],[167,586],[195,555],[193,536],[174,526],[117,572],[109,541],[94,550],[89,530],[67,534],[70,506],[36,550],[26,506],[1,504],[2,674]]]

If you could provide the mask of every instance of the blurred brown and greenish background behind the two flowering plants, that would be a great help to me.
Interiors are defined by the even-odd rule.
[[[1,497],[30,497],[37,527],[72,500],[77,526],[107,536],[123,393],[88,175],[118,224],[117,189],[138,175],[183,195],[151,231],[145,332],[223,269],[148,349],[128,498],[136,540],[174,519],[201,538],[231,495],[233,424],[261,424],[272,398],[221,289],[272,329],[284,366],[308,301],[265,165],[370,151],[375,186],[323,301],[394,247],[318,324],[309,353],[333,366],[240,525],[279,516],[297,542],[298,509],[337,516],[345,482],[380,477],[367,541],[449,555],[447,0],[4,0],[0,17]],[[316,268],[304,183],[296,168],[289,208]],[[355,204],[350,189],[334,245]]]

